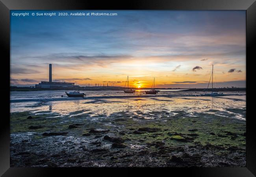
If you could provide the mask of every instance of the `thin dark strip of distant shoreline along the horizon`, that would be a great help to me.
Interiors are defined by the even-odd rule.
[[[30,88],[30,87],[10,87],[10,91],[57,91],[57,90],[81,90],[81,91],[102,91],[102,90],[124,90],[127,88],[123,87],[83,87],[83,88]],[[151,89],[151,88],[130,88],[136,90],[144,90],[144,89]],[[166,89],[183,89],[182,91],[207,91],[207,88],[155,88],[160,90]],[[208,89],[211,91],[211,89]],[[213,88],[213,91],[246,91],[246,88]]]

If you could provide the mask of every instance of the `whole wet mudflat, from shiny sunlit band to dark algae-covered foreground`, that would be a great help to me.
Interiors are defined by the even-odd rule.
[[[10,116],[11,167],[244,167],[244,99],[151,97],[26,104]]]

